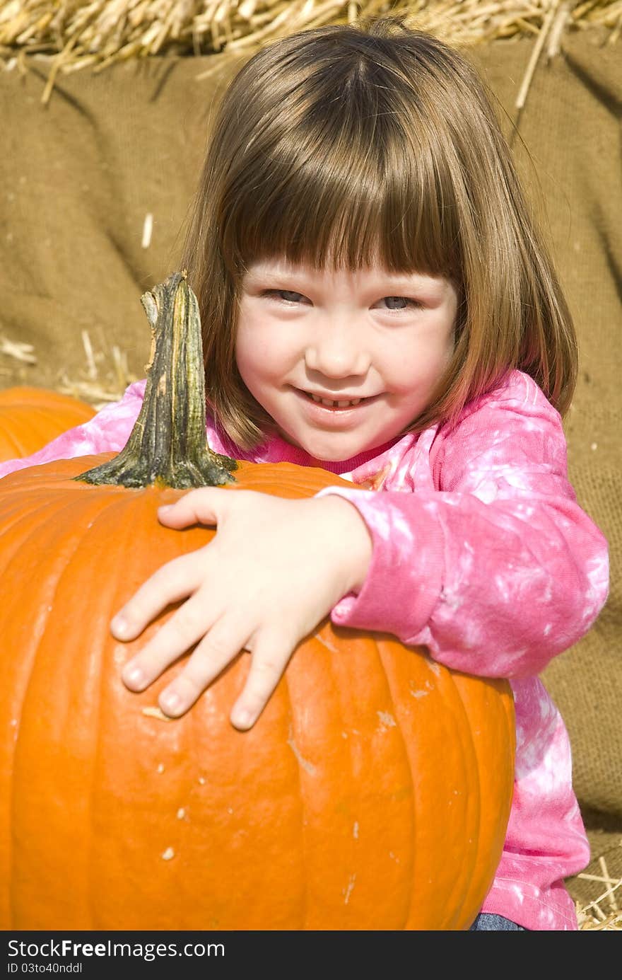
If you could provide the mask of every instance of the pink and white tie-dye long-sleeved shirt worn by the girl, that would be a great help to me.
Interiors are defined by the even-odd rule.
[[[1,464],[0,476],[120,450],[144,387],[135,382],[119,403],[38,453]],[[527,929],[577,929],[563,879],[586,866],[589,846],[566,729],[537,674],[596,619],[607,595],[607,548],[576,503],[560,418],[535,382],[511,371],[467,405],[453,429],[433,425],[343,463],[318,464],[278,437],[242,453],[212,421],[208,440],[237,459],[321,465],[352,481],[352,489],[319,494],[348,498],[373,539],[364,585],[334,607],[334,623],[388,631],[425,644],[450,667],[509,678],[514,796],[482,910]],[[370,479],[373,490],[357,488]]]

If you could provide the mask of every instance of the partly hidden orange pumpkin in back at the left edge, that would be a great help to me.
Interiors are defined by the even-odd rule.
[[[16,386],[0,391],[0,463],[30,456],[57,435],[95,415],[71,395]]]

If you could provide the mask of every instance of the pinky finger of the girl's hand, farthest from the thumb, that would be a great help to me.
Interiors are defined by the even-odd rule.
[[[264,632],[253,645],[251,668],[242,694],[231,711],[231,724],[252,728],[278,684],[296,643],[282,635]]]

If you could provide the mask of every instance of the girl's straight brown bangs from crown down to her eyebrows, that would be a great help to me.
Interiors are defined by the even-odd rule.
[[[330,99],[309,85],[288,126],[267,121],[227,194],[222,247],[232,271],[282,257],[315,269],[380,264],[459,280],[453,175],[439,170],[446,157],[434,127],[413,116],[411,98],[396,112],[388,81],[360,71]]]

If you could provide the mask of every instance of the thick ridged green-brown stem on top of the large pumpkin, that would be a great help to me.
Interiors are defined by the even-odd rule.
[[[206,401],[199,304],[174,272],[141,297],[152,329],[145,397],[119,455],[74,476],[85,483],[185,489],[232,483],[235,460],[206,439]]]

